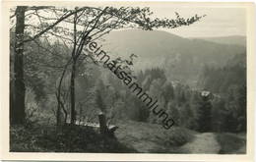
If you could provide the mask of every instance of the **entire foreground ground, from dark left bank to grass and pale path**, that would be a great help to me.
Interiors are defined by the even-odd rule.
[[[173,127],[126,121],[118,123],[116,138],[85,127],[32,125],[11,127],[14,152],[112,152],[112,153],[245,153],[245,135],[196,132]]]

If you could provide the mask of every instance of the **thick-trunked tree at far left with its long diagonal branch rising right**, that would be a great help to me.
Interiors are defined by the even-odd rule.
[[[15,14],[11,16],[11,19],[16,16],[16,26],[15,26],[15,50],[14,50],[14,85],[11,85],[11,104],[10,104],[10,121],[11,124],[24,124],[25,122],[25,82],[24,82],[24,43],[35,40],[45,32],[47,32],[52,27],[55,27],[63,20],[72,16],[74,13],[83,10],[81,8],[74,13],[65,13],[62,17],[60,17],[55,23],[49,25],[41,30],[39,30],[33,36],[29,35],[29,38],[25,39],[25,20],[26,20],[26,12],[32,11],[37,13],[38,10],[41,9],[49,9],[51,7],[26,7],[26,6],[18,6],[15,10]],[[32,14],[32,13],[30,13]],[[37,14],[38,16],[38,14]],[[12,83],[12,82],[11,82]]]

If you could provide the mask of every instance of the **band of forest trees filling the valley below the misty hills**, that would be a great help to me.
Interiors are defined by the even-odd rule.
[[[42,47],[47,46],[44,41],[40,41],[40,44]],[[31,109],[36,109],[39,112],[37,115],[50,119],[48,121],[53,123],[57,105],[56,82],[62,72],[61,66],[68,59],[65,55],[69,53],[64,49],[66,48],[59,42],[55,42],[52,45],[54,53],[49,53],[46,48],[39,50],[35,43],[31,43],[25,57],[27,114],[33,111]],[[58,53],[62,54],[57,56]],[[159,107],[171,115],[176,126],[199,132],[245,132],[246,69],[242,56],[245,55],[235,56],[223,68],[205,67],[199,81],[202,90],[191,88],[179,81],[171,81],[170,77],[167,79],[165,70],[160,68],[133,75],[145,91],[158,99]],[[79,62],[80,69],[77,72],[77,120],[96,123],[97,114],[101,111],[106,114],[108,124],[120,120],[161,122],[122,81],[107,69],[86,61],[87,64],[82,64],[85,60]],[[67,69],[67,72],[69,71],[70,69]],[[66,112],[71,111],[68,102],[69,77],[65,75],[61,93]],[[203,92],[209,92],[207,97]],[[61,111],[62,120],[65,111]],[[70,115],[66,118],[70,119]]]

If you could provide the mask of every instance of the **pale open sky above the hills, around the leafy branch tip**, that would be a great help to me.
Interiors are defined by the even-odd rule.
[[[206,15],[200,22],[189,27],[162,29],[182,37],[215,37],[229,35],[246,35],[246,10],[244,8],[205,8],[154,6],[151,10],[160,18],[174,18],[174,12],[184,18],[195,14]]]

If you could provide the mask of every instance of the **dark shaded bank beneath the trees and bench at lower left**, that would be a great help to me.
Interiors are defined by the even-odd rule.
[[[80,126],[12,127],[10,150],[15,152],[136,152],[115,138]]]

